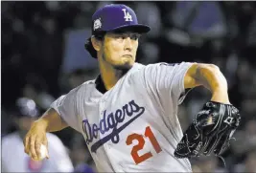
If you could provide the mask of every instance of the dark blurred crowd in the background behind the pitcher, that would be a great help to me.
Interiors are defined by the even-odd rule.
[[[84,68],[63,70],[73,56],[66,55],[65,36],[68,31],[90,30],[93,12],[109,3],[115,2],[1,2],[2,137],[17,130],[12,120],[17,98],[34,99],[43,113],[57,97],[99,74],[97,65],[90,66],[87,60]],[[256,172],[256,3],[119,3],[128,5],[139,21],[151,26],[151,32],[139,41],[138,62],[214,63],[227,78],[230,101],[241,110],[242,125],[234,136],[236,141],[231,141],[222,155],[224,162],[201,157],[191,161],[193,169]],[[86,38],[81,37],[84,42]],[[81,54],[87,55],[85,50]],[[178,115],[183,129],[210,96],[202,87],[188,94]],[[94,168],[80,134],[71,128],[55,134],[66,146],[74,167],[81,172],[83,164]]]

